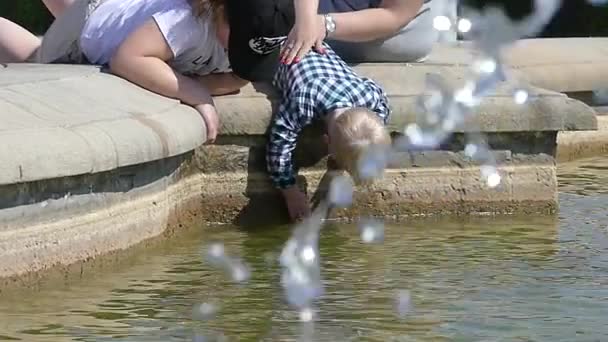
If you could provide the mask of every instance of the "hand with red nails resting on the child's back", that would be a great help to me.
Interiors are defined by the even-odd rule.
[[[325,20],[322,15],[297,17],[295,25],[281,48],[281,63],[298,63],[313,47],[318,53],[325,53],[323,48],[325,35]]]

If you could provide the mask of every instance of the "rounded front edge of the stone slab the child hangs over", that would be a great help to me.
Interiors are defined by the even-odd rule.
[[[586,131],[597,129],[595,111],[585,103],[560,93],[546,91],[526,105],[514,103],[508,96],[486,98],[468,122],[454,130],[466,132]],[[390,97],[393,115],[388,129],[401,132],[417,122],[417,95]],[[223,136],[264,135],[277,106],[268,96],[229,95],[216,99],[221,113]],[[246,109],[246,110],[244,110]]]

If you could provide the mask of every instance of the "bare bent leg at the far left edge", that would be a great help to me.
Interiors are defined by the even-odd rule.
[[[0,17],[0,63],[26,62],[40,47],[40,38]]]

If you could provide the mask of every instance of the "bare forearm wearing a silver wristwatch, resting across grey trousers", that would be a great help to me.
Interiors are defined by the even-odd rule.
[[[422,2],[423,0],[384,0],[379,8],[332,13],[336,32],[330,38],[365,42],[389,37],[416,17]]]

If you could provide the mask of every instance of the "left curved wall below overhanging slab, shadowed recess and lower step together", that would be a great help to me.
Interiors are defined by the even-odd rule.
[[[2,280],[129,248],[199,215],[203,185],[187,170],[190,158],[0,186],[0,288]],[[29,200],[8,206],[19,198]]]

